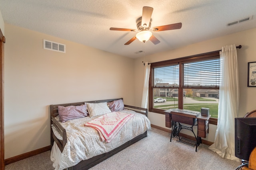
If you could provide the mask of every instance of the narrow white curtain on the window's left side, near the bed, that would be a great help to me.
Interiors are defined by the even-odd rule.
[[[142,101],[141,107],[148,108],[148,80],[150,74],[150,65],[148,62],[145,63],[145,71],[144,71],[144,85],[143,85],[143,93],[142,93]]]

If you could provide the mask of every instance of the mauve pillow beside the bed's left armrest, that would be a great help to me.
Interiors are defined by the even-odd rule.
[[[80,106],[58,106],[58,113],[62,122],[88,116],[85,104]]]

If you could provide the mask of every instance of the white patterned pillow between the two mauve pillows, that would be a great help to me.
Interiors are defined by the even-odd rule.
[[[87,105],[90,117],[111,113],[111,110],[108,108],[107,102],[85,104]]]

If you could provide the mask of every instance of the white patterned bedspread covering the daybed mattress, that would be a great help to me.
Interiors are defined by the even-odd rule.
[[[54,162],[53,167],[55,170],[63,170],[78,164],[81,160],[109,152],[151,129],[150,121],[145,115],[128,109],[124,109],[120,112],[132,113],[134,116],[127,121],[125,126],[122,127],[110,143],[102,141],[98,131],[92,127],[84,126],[84,123],[96,119],[99,116],[73,119],[64,123],[60,122],[66,129],[67,143],[62,153],[57,148],[57,145],[54,144],[52,147],[51,160]],[[56,119],[58,120],[58,116]],[[52,126],[52,129],[56,137],[61,139],[55,127]]]

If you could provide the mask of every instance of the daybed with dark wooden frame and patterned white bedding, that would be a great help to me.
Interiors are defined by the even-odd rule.
[[[113,107],[113,103],[116,101],[122,103],[123,98],[50,105],[51,160],[55,170],[66,168],[68,170],[89,169],[147,136],[147,131],[151,129],[150,121],[147,118],[148,109],[123,104],[122,110],[120,108],[118,111],[112,110],[115,107],[115,105]],[[108,108],[112,105],[111,113],[103,114],[100,112],[101,109],[98,109],[97,113],[92,113],[91,109],[94,107],[90,106],[96,105],[96,108],[98,108],[98,105],[104,104],[105,107],[105,103],[107,103]],[[62,122],[62,113],[60,115],[58,113],[61,111],[60,108],[84,107],[84,105],[87,106],[86,109],[90,112],[90,115],[88,113],[86,117]],[[96,115],[93,115],[95,113]],[[98,115],[98,113],[100,114]],[[113,114],[126,117],[125,123],[120,129],[116,128],[118,133],[116,132],[113,136],[110,135],[107,140],[90,123],[99,119],[105,120],[102,117]]]

